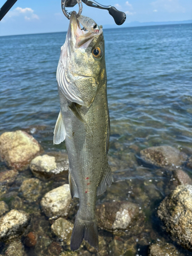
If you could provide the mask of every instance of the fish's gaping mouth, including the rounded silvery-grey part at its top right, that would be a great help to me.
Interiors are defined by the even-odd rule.
[[[81,28],[80,24],[83,26]],[[75,48],[87,48],[93,38],[102,33],[102,26],[98,26],[93,19],[72,12],[70,19],[70,38]]]

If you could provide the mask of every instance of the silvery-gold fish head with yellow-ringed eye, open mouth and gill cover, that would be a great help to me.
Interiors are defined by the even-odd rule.
[[[89,107],[98,88],[106,83],[106,69],[102,26],[94,25],[93,30],[91,18],[86,18],[91,26],[81,29],[76,12],[72,12],[66,43],[61,47],[60,68],[67,83],[65,96]]]

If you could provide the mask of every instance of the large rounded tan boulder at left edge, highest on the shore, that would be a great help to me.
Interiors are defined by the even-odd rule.
[[[0,155],[10,168],[26,169],[30,161],[41,152],[42,147],[26,132],[18,130],[0,136]]]

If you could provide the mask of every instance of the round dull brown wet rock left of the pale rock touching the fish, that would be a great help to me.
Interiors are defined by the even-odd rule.
[[[22,196],[28,202],[35,202],[40,197],[41,189],[41,181],[36,178],[31,178],[22,182],[19,191],[22,192]]]

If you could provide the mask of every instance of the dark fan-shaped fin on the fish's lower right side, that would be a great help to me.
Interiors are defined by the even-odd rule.
[[[106,184],[108,184],[108,186],[110,187],[112,182],[113,176],[111,174],[111,168],[107,162],[103,173],[103,177],[101,179],[100,184],[97,187],[97,196],[101,195],[106,190]]]

